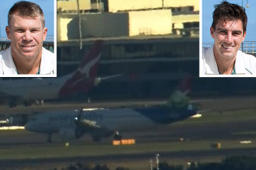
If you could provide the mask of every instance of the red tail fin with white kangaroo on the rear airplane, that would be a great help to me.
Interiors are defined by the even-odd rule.
[[[60,89],[60,97],[71,95],[79,91],[88,91],[95,86],[102,49],[103,41],[96,40],[89,52],[83,56],[83,61],[78,69],[73,72]]]

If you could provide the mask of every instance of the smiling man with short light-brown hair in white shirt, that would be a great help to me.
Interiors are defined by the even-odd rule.
[[[43,47],[47,27],[39,5],[25,1],[15,3],[8,12],[5,31],[11,47],[0,52],[0,75],[54,74],[55,56]]]

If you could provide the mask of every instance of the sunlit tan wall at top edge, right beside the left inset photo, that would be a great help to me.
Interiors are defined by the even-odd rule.
[[[89,10],[91,9],[90,0],[79,0],[80,10]],[[57,1],[57,11],[76,11],[77,4],[76,0],[74,1]]]

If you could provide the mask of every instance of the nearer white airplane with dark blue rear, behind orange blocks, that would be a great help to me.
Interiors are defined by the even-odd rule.
[[[121,133],[126,131],[148,130],[197,114],[197,108],[187,100],[187,93],[187,90],[174,91],[170,100],[160,105],[44,111],[31,117],[24,127],[34,133],[48,134],[48,142],[52,142],[53,133],[63,140],[79,139],[85,133],[93,141],[109,136],[121,140]]]

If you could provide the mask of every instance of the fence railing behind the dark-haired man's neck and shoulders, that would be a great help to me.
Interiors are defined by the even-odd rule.
[[[211,47],[213,43],[202,43],[203,47]],[[244,41],[241,43],[240,50],[244,53],[251,53],[254,54],[256,53],[256,41]]]

